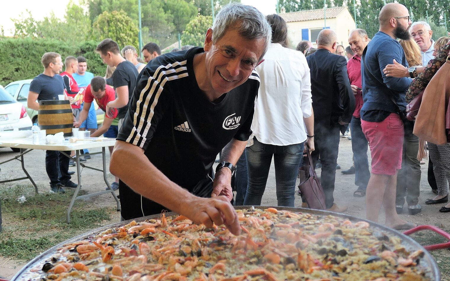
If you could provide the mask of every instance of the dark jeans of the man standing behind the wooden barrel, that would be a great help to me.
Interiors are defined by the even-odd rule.
[[[64,151],[70,155],[70,151]],[[70,180],[69,158],[56,150],[45,151],[45,170],[50,179],[50,186],[62,185]]]

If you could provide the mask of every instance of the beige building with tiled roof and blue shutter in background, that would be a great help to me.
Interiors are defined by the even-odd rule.
[[[324,9],[291,13],[283,13],[283,11],[284,8],[281,9],[279,16],[288,23],[288,36],[294,48],[302,40],[309,40],[315,46],[317,35],[324,28],[333,29],[338,35],[339,44],[346,47],[350,31],[356,28],[355,21],[347,7],[328,8],[325,10],[325,14]]]

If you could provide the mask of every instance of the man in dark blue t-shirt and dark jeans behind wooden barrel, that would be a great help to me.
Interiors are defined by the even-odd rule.
[[[41,59],[44,72],[33,78],[28,93],[28,108],[39,110],[36,100],[58,100],[64,93],[64,82],[59,72],[63,67],[61,55],[54,52],[45,53]],[[65,151],[70,154],[70,151]],[[45,170],[50,179],[50,190],[64,193],[63,187],[76,188],[68,173],[69,158],[55,150],[45,152]]]

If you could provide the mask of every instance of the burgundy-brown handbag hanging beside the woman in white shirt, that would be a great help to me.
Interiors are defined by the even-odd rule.
[[[320,180],[314,170],[309,147],[306,145],[306,163],[299,168],[299,176],[302,182],[298,185],[298,188],[302,192],[302,197],[306,199],[306,203],[309,208],[324,210],[325,207],[325,195]]]

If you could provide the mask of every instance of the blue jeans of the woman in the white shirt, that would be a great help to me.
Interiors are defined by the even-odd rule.
[[[278,206],[294,207],[295,181],[303,158],[303,143],[266,145],[256,137],[253,141],[254,144],[245,149],[248,187],[244,205],[261,205],[273,156]]]

